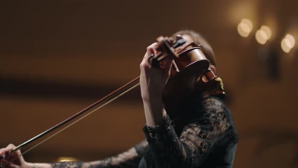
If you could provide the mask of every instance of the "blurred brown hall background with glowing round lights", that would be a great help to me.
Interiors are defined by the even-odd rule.
[[[1,1],[0,146],[32,138],[138,76],[159,35],[193,29],[217,56],[239,132],[234,167],[298,167],[297,7],[294,0]],[[25,159],[90,161],[130,148],[144,139],[139,92]]]

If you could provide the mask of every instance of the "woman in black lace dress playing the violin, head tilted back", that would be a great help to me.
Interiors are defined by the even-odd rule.
[[[209,70],[216,74],[214,53],[207,41],[192,30],[182,30],[173,36],[177,34],[181,34],[186,43],[176,51],[191,42],[202,45],[210,62]],[[147,47],[140,63],[140,88],[146,119],[143,132],[146,140],[116,156],[90,162],[30,163],[22,156],[12,161],[21,151],[10,153],[15,147],[10,144],[0,149],[0,156],[4,157],[1,163],[7,167],[32,168],[232,167],[238,134],[230,111],[220,99],[222,94],[217,94],[223,93],[221,80],[216,78],[215,81],[219,84],[212,87],[205,82],[207,84],[202,87],[197,85],[203,80],[202,75],[187,78],[192,81],[191,86],[186,87],[191,96],[187,100],[181,98],[178,105],[176,102],[172,103],[172,107],[169,107],[171,104],[165,105],[161,95],[173,75],[171,73],[175,65],[173,59],[167,58],[162,67],[152,66],[148,60],[157,55],[158,48],[158,43]]]

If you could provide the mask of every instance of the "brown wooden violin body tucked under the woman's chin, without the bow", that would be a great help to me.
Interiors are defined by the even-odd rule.
[[[158,41],[160,43],[161,37]],[[188,111],[187,108],[191,108],[195,100],[225,96],[222,81],[211,70],[201,45],[190,43],[174,54],[169,54],[169,49],[161,48],[165,47],[159,50],[173,58],[171,74],[162,93],[164,107],[171,118],[181,117],[181,111]]]

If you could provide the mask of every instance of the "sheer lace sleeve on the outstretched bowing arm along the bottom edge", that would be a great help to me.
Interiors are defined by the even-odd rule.
[[[138,163],[145,152],[145,148],[148,145],[144,140],[138,145],[130,148],[129,150],[120,153],[116,156],[106,158],[104,160],[97,160],[91,162],[53,162],[51,163],[53,168],[56,167],[97,167],[97,168],[113,168],[113,167],[137,167]]]

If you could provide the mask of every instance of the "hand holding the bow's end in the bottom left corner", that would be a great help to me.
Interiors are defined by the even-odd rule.
[[[1,159],[1,165],[3,167],[12,167],[12,168],[17,168],[17,167],[34,167],[32,166],[32,163],[26,162],[24,160],[24,157],[21,155],[21,151],[17,150],[13,153],[11,151],[15,148],[16,146],[13,144],[9,144],[6,148],[0,149],[0,156],[3,158]]]

